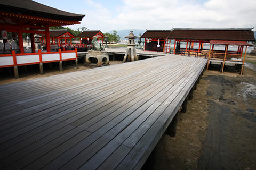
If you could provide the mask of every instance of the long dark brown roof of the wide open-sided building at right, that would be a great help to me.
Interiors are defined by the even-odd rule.
[[[227,40],[227,41],[255,41],[251,28],[245,29],[177,29],[174,28],[170,39],[195,40]]]

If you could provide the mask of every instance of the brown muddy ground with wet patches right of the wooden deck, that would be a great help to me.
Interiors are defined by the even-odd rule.
[[[153,169],[256,169],[256,72],[204,73],[175,138],[164,135]]]

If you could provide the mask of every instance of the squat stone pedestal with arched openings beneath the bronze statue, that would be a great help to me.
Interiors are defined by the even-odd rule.
[[[92,63],[91,58],[97,58],[97,65],[101,66],[102,64],[109,64],[108,54],[105,51],[88,51],[85,56],[85,63]]]

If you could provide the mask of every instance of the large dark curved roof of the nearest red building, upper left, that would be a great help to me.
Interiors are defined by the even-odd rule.
[[[31,0],[0,0],[0,9],[0,11],[5,12],[20,13],[63,21],[81,21],[85,16],[61,11]]]

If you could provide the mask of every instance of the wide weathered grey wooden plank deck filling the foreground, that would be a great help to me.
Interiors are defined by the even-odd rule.
[[[166,54],[0,86],[0,169],[140,169],[206,63]]]

